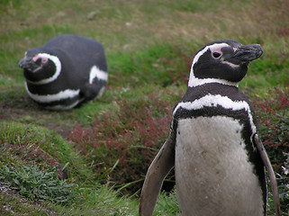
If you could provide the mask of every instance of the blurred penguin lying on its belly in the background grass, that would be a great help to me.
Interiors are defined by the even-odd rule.
[[[108,72],[103,46],[78,35],[60,35],[21,59],[25,88],[49,110],[69,110],[104,93]]]

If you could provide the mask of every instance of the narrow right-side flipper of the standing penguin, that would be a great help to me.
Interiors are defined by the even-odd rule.
[[[281,216],[281,210],[280,210],[280,201],[279,201],[279,194],[277,189],[277,183],[275,179],[275,173],[272,168],[271,162],[269,160],[269,157],[266,154],[266,149],[264,148],[261,139],[259,139],[259,136],[257,133],[254,135],[254,142],[257,146],[257,149],[260,153],[260,156],[263,160],[264,165],[266,166],[266,171],[268,172],[272,193],[273,193],[273,200],[274,200],[274,206],[275,206],[275,215]]]

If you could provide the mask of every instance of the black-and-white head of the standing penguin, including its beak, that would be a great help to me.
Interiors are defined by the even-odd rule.
[[[235,40],[209,43],[194,56],[188,86],[205,83],[237,86],[248,71],[248,63],[262,53],[258,44],[243,46]]]

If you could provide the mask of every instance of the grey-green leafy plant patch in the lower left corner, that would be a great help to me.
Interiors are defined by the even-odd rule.
[[[75,198],[71,190],[74,185],[60,181],[56,168],[41,171],[38,166],[23,166],[21,170],[14,170],[4,166],[0,169],[0,179],[2,184],[34,201],[43,200],[66,205]]]

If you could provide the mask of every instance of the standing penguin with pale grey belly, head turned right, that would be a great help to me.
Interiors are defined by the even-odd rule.
[[[257,119],[238,88],[248,64],[262,53],[260,45],[236,40],[214,41],[196,53],[168,138],[145,177],[140,216],[152,215],[174,166],[181,215],[266,215],[265,167],[280,215],[275,174],[258,137]]]

